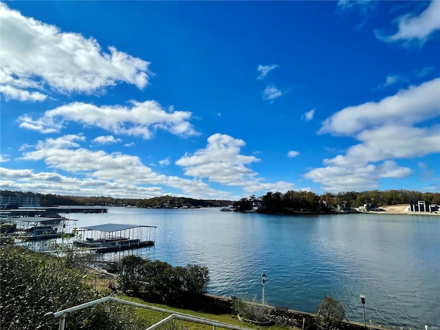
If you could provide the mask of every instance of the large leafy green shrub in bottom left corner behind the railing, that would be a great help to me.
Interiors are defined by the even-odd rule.
[[[58,329],[58,320],[43,320],[45,313],[100,298],[85,285],[83,274],[64,261],[13,248],[1,248],[0,259],[1,329]],[[109,327],[109,320],[119,321]],[[68,329],[142,329],[128,309],[106,305],[69,314],[66,321]]]

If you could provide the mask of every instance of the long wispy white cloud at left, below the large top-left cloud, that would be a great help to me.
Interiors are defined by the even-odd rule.
[[[33,120],[28,115],[19,118],[20,127],[41,131],[60,132],[67,121],[96,126],[118,134],[140,136],[149,139],[157,129],[179,136],[197,135],[188,120],[188,111],[165,111],[155,101],[135,102],[132,107],[102,106],[82,102],[65,104],[46,111],[43,117]]]

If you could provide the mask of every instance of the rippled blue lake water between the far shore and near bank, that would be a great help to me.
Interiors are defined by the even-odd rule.
[[[439,329],[440,217],[390,214],[280,216],[219,208],[110,208],[71,214],[78,227],[156,225],[156,244],[135,253],[210,271],[210,294],[313,312],[323,296],[346,318],[384,327]]]

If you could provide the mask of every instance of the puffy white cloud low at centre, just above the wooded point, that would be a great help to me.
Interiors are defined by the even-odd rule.
[[[248,192],[277,187],[293,188],[293,184],[282,181],[276,184],[263,183],[263,179],[257,178],[258,173],[246,167],[261,159],[241,155],[242,146],[245,146],[243,140],[217,133],[208,138],[206,148],[199,149],[193,155],[184,155],[175,164],[185,169],[185,175],[206,177],[227,186],[240,186]]]

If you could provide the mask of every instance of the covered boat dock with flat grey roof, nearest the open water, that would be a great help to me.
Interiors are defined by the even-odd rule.
[[[100,253],[144,248],[155,244],[156,228],[126,223],[91,225],[78,230],[82,239],[74,244]]]

